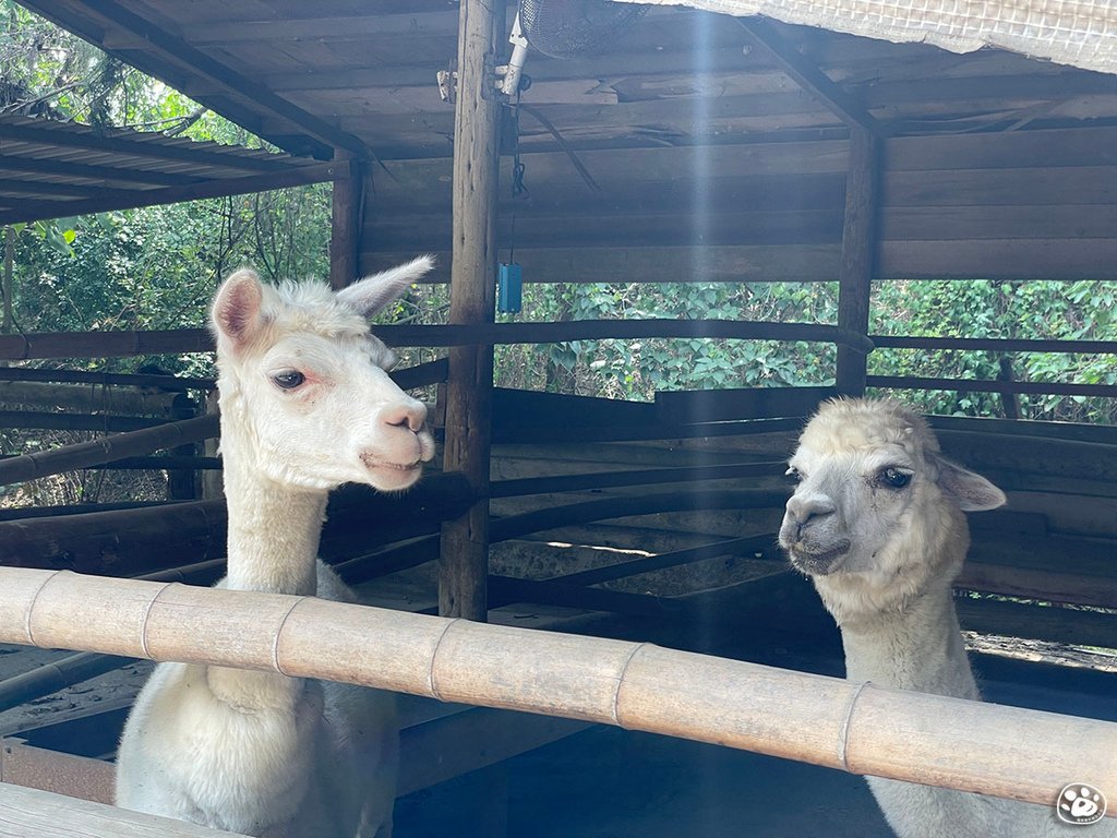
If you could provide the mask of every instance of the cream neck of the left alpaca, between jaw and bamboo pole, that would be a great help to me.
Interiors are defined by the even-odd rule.
[[[229,569],[226,587],[314,596],[327,494],[281,485],[236,461],[226,465]]]

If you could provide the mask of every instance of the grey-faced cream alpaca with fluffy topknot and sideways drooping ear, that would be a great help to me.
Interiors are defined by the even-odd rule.
[[[927,423],[891,400],[837,400],[808,423],[789,474],[780,544],[841,628],[851,680],[980,701],[952,584],[970,547],[964,512],[1004,493],[947,461]],[[1021,731],[1027,735],[1027,731]],[[1067,778],[1068,782],[1088,778]],[[903,838],[1102,838],[1111,819],[1063,823],[1051,806],[868,778]]]

